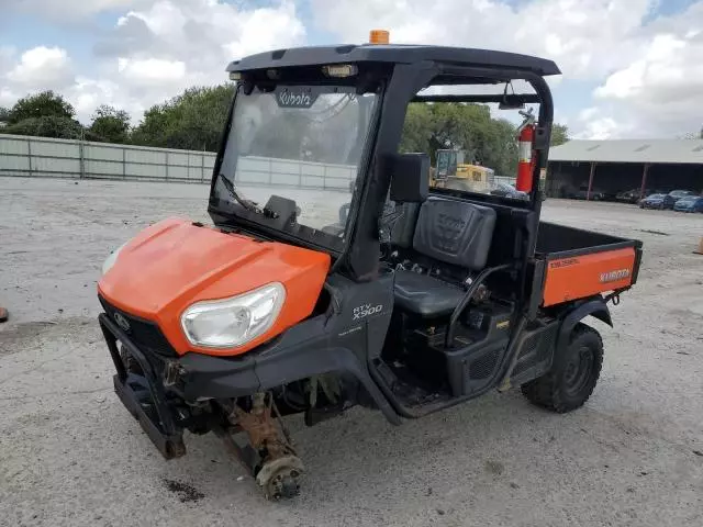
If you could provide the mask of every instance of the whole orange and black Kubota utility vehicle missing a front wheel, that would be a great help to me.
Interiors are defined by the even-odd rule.
[[[603,347],[583,318],[612,324],[641,244],[539,221],[554,63],[377,43],[227,69],[212,224],[149,226],[98,287],[114,389],[164,457],[213,431],[279,498],[303,474],[287,415],[362,405],[398,425],[511,386],[555,412],[588,400]],[[516,79],[532,90],[507,94]],[[499,91],[425,90],[451,85]],[[427,102],[539,105],[529,199],[431,189],[428,155],[399,153],[408,105]]]

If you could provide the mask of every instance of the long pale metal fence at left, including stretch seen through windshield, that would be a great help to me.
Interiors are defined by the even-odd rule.
[[[0,134],[0,176],[209,182],[212,152]],[[238,162],[243,184],[347,189],[356,168],[266,157]]]

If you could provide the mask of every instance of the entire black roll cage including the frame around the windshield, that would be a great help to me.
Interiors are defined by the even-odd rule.
[[[341,61],[344,61],[343,59]],[[354,63],[353,63],[354,64]],[[280,82],[305,83],[333,83],[334,80],[325,78],[320,67],[311,67],[309,64],[297,67],[286,65],[280,70]],[[398,154],[402,130],[405,122],[405,113],[411,102],[467,102],[467,103],[538,103],[537,130],[535,136],[536,160],[533,172],[533,188],[529,201],[518,202],[500,197],[487,194],[473,194],[448,189],[433,189],[437,194],[458,195],[470,198],[475,201],[507,205],[515,209],[533,211],[532,226],[537,229],[542,209],[539,191],[539,175],[546,169],[549,136],[554,119],[554,103],[551,92],[543,75],[537,70],[516,69],[507,67],[473,66],[462,64],[447,64],[438,60],[417,60],[414,63],[359,63],[359,86],[365,83],[380,85],[379,101],[376,114],[371,120],[369,137],[361,155],[357,176],[357,188],[353,194],[348,213],[346,231],[347,244],[339,254],[333,254],[333,271],[342,271],[357,281],[373,280],[380,266],[381,247],[379,240],[379,218],[382,216],[383,206],[390,186],[390,173],[386,169],[387,161]],[[231,69],[232,70],[232,69]],[[268,80],[270,69],[255,69],[242,71],[242,82],[256,82]],[[525,80],[532,86],[535,93],[499,93],[499,94],[419,94],[428,86],[437,85],[500,85],[513,80]],[[344,79],[345,83],[349,79]],[[228,110],[224,134],[221,141],[219,155],[215,160],[211,183],[211,199],[209,212],[222,222],[223,211],[219,210],[216,200],[213,200],[214,187],[222,164],[222,157],[226,144],[226,137],[232,126],[232,114],[236,100],[232,100]],[[226,222],[231,223],[231,222]],[[246,225],[254,228],[252,225]],[[258,228],[258,227],[256,227]],[[300,243],[283,233],[266,233],[269,237],[280,237],[287,242]],[[312,244],[303,244],[310,248],[320,250]],[[328,249],[324,249],[327,250]],[[528,249],[527,258],[534,255],[534,243]],[[523,262],[526,264],[526,262]]]

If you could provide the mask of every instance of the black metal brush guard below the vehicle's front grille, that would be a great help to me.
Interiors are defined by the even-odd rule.
[[[113,375],[114,391],[166,459],[186,455],[183,430],[174,419],[166,402],[166,392],[154,365],[104,313],[98,316],[102,334],[118,370]],[[131,373],[120,356],[118,340],[140,366],[143,375]]]

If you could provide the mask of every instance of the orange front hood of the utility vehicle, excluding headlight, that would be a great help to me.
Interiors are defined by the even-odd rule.
[[[326,253],[199,227],[168,218],[137,234],[98,283],[115,307],[157,323],[178,354],[239,355],[308,317],[330,270]],[[186,338],[180,316],[194,302],[220,300],[278,281],[286,302],[276,323],[238,348],[201,348]]]

